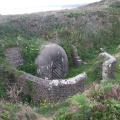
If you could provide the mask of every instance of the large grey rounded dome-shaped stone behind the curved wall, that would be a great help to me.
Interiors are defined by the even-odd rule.
[[[66,52],[57,44],[43,46],[35,61],[37,74],[44,79],[61,79],[68,72],[68,58]]]

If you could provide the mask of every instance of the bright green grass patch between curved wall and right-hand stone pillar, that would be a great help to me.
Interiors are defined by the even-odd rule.
[[[82,64],[80,67],[70,67],[69,74],[67,78],[76,76],[81,74],[82,72],[86,72],[88,75],[88,79],[86,84],[90,84],[96,80],[100,80],[100,67],[97,59],[93,59],[87,62],[87,64]]]

